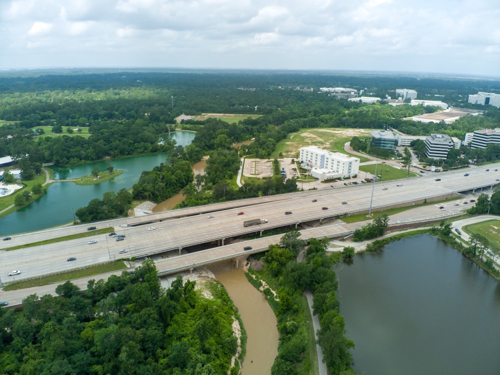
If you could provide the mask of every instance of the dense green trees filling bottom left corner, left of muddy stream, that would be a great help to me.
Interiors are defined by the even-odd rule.
[[[178,276],[168,289],[146,260],[134,273],[90,280],[85,291],[67,281],[59,297],[32,294],[22,311],[0,309],[2,374],[188,374],[230,368],[239,317],[225,289]],[[244,332],[244,331],[243,331]],[[243,342],[244,345],[244,342]]]

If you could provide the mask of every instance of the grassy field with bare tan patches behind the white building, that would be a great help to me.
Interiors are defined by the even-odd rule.
[[[343,149],[343,145],[351,140],[354,135],[365,138],[370,135],[370,130],[336,127],[300,129],[288,134],[286,139],[280,140],[270,157],[279,157],[280,152],[286,157],[298,157],[299,148],[305,146],[318,146],[332,152],[349,154]],[[357,155],[350,156],[359,157]],[[360,161],[369,160],[369,158],[365,157],[359,157],[359,159]]]

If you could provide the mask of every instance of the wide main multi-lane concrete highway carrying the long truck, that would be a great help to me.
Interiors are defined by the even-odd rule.
[[[489,169],[489,171],[485,169]],[[142,257],[166,250],[178,250],[195,244],[206,244],[210,241],[263,229],[294,226],[298,223],[315,220],[317,223],[317,220],[345,213],[367,211],[371,200],[372,209],[376,210],[383,207],[408,205],[414,201],[423,201],[423,199],[442,199],[454,196],[460,191],[474,188],[486,187],[488,193],[491,193],[489,187],[494,187],[499,183],[496,179],[500,179],[500,172],[494,171],[494,169],[500,169],[500,163],[446,173],[425,173],[421,177],[379,181],[375,184],[366,183],[340,188],[309,190],[92,223],[91,225],[95,225],[97,229],[111,226],[117,233],[125,234],[126,237],[123,241],[116,241],[115,238],[102,233],[49,245],[0,251],[0,277],[5,283],[14,279],[37,277],[119,258]],[[469,173],[468,176],[464,176],[465,171]],[[435,181],[434,179],[437,177],[441,180]],[[397,186],[398,183],[402,185]],[[385,187],[386,190],[383,189]],[[371,199],[372,192],[373,198]],[[316,201],[313,202],[314,199]],[[342,204],[342,201],[346,201],[347,204]],[[323,210],[322,207],[328,209]],[[292,213],[284,214],[285,211]],[[243,212],[243,214],[238,215],[238,212]],[[213,217],[208,218],[208,215]],[[268,222],[249,227],[243,226],[243,221],[253,218],[265,218]],[[120,226],[125,224],[134,226]],[[0,242],[0,246],[5,248],[81,233],[86,231],[89,225],[75,225],[12,235],[10,240]],[[155,230],[148,230],[149,226],[154,226]],[[317,229],[319,230],[319,228]],[[325,230],[335,232],[336,229],[326,228]],[[95,239],[97,242],[88,244],[91,239]],[[245,244],[247,243],[250,244],[250,242],[245,242]],[[234,254],[241,252],[242,247],[243,244],[240,243],[220,248],[226,254]],[[252,247],[265,247],[265,244],[262,243],[257,247],[252,245]],[[120,249],[127,249],[127,252],[119,253]],[[173,252],[173,254],[175,253],[177,252]],[[66,261],[69,256],[76,257],[76,260]],[[210,256],[217,257],[218,255],[212,254]],[[7,276],[7,273],[13,269],[19,269],[21,273]]]

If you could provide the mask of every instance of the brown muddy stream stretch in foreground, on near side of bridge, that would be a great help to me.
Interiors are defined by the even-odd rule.
[[[233,267],[232,261],[210,264],[208,268],[238,308],[248,336],[242,375],[270,374],[279,337],[274,312],[263,295],[248,282],[244,271]]]

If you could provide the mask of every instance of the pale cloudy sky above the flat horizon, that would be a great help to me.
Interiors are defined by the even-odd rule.
[[[0,0],[0,69],[500,76],[500,0]]]

